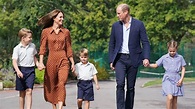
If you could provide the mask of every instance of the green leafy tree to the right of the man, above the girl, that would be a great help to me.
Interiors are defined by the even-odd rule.
[[[132,15],[142,20],[151,43],[195,35],[195,5],[192,0],[133,0],[129,1]]]

